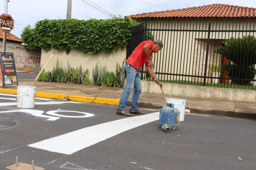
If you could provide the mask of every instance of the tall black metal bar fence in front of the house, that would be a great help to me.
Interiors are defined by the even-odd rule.
[[[255,22],[145,22],[132,28],[127,58],[146,37],[163,41],[152,60],[164,82],[255,89]],[[149,79],[141,68],[141,79]]]

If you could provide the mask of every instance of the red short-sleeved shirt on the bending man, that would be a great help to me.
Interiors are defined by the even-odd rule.
[[[153,56],[154,51],[154,43],[153,41],[143,41],[141,42],[132,52],[132,54],[128,57],[126,62],[132,65],[136,70],[140,70],[142,64],[145,63],[146,67],[149,66],[148,64],[148,57],[144,52],[143,46],[147,44],[149,47],[150,56]]]

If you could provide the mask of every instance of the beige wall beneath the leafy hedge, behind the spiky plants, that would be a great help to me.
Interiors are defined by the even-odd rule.
[[[59,59],[60,65],[62,65],[63,68],[67,68],[68,63],[71,67],[75,68],[82,65],[82,69],[86,70],[88,69],[90,71],[89,78],[93,80],[92,78],[92,69],[95,70],[95,66],[98,63],[99,69],[100,67],[104,67],[106,64],[106,70],[108,71],[114,71],[116,73],[116,63],[119,63],[120,66],[122,66],[123,61],[126,57],[126,47],[118,48],[115,53],[103,53],[99,52],[98,54],[93,55],[86,55],[78,50],[71,50],[69,54],[66,54],[65,50],[56,50],[51,49],[47,52],[45,52],[42,49],[42,55],[41,55],[41,68],[45,65],[45,63],[48,61],[52,53],[55,53],[49,63],[45,66],[45,71],[51,71],[54,66],[56,66],[57,59]]]

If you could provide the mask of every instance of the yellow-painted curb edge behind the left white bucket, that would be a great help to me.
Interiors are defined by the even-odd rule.
[[[17,94],[17,90],[3,89],[3,88],[0,88],[0,92]],[[71,101],[81,101],[86,103],[90,103],[93,101],[93,103],[108,104],[108,105],[119,105],[119,101],[120,101],[117,99],[83,97],[83,96],[73,96],[73,95],[67,95],[67,94],[46,93],[46,92],[36,92],[35,96],[44,97],[44,98],[61,99],[61,100],[69,99]]]

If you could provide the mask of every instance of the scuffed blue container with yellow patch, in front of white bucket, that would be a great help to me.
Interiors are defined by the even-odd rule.
[[[166,103],[165,107],[160,109],[159,128],[168,132],[177,129],[180,125],[180,110],[174,108],[173,103]]]

